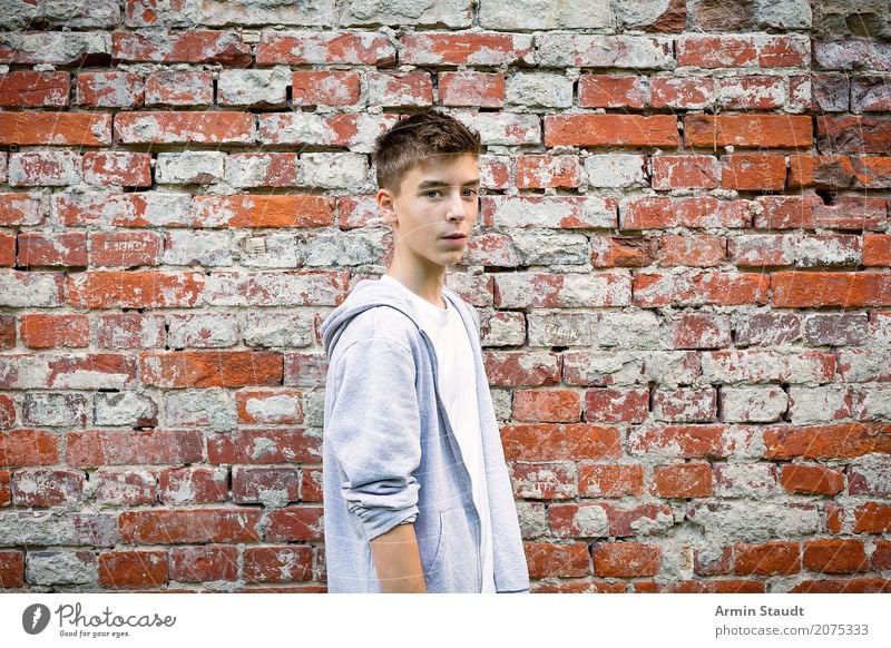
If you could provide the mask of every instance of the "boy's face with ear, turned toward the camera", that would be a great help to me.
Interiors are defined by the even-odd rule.
[[[419,272],[461,259],[479,214],[479,163],[474,155],[440,156],[409,171],[399,196],[378,190],[378,205],[395,236],[394,253]],[[446,238],[463,234],[463,238]]]

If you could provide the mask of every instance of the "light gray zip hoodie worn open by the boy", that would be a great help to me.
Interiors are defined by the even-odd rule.
[[[482,364],[479,318],[442,288],[472,341],[498,592],[529,590],[517,508]],[[479,592],[480,523],[437,382],[433,344],[396,286],[360,281],[322,324],[330,592],[380,592],[370,540],[414,522],[430,592]]]

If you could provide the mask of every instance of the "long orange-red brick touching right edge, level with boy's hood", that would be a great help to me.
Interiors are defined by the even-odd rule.
[[[891,273],[776,272],[771,304],[780,308],[891,305]]]

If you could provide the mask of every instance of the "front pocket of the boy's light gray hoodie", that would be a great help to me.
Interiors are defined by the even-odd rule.
[[[439,512],[439,540],[425,576],[430,592],[479,591],[479,547],[463,507]]]

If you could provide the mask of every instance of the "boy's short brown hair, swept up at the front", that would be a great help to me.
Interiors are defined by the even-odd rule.
[[[435,155],[479,155],[480,134],[451,115],[429,109],[400,119],[374,140],[378,187],[399,195],[405,174]]]

